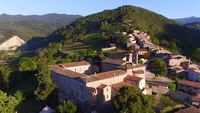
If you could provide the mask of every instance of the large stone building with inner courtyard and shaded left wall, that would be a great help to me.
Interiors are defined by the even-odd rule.
[[[107,63],[107,62],[106,62]],[[145,90],[145,66],[102,62],[99,72],[87,61],[53,65],[52,80],[59,90],[60,99],[70,99],[78,105],[96,105],[111,100],[124,86]],[[108,67],[108,68],[105,68]]]

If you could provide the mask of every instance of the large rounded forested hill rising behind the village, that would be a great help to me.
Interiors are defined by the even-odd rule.
[[[58,29],[52,36],[64,37],[65,49],[68,49],[69,45],[80,42],[82,45],[94,45],[93,47],[105,46],[109,42],[123,46],[125,38],[120,35],[120,32],[133,29],[149,33],[154,43],[173,51],[179,50],[190,54],[200,47],[199,32],[135,6],[123,6],[80,18]],[[70,46],[71,49],[72,47],[74,46]],[[77,49],[77,46],[75,47]]]

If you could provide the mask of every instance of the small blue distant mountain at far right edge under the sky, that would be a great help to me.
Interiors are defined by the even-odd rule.
[[[179,24],[190,24],[190,23],[200,23],[200,17],[186,17],[186,18],[178,18],[175,19]]]

